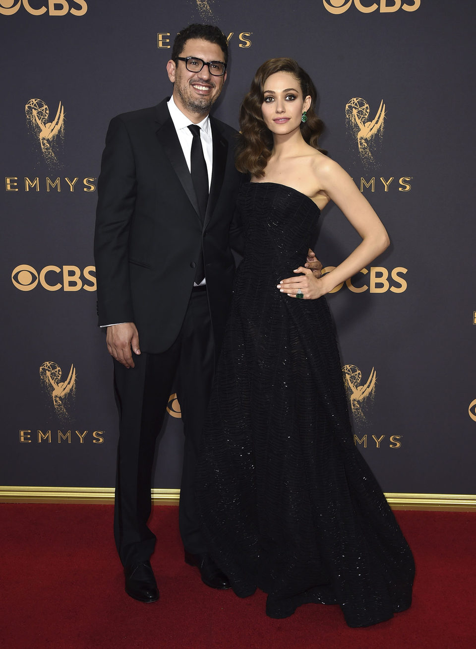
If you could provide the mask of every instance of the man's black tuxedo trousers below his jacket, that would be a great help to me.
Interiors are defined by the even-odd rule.
[[[139,332],[140,344],[140,332]],[[206,552],[195,515],[194,480],[200,437],[215,370],[215,346],[206,291],[193,290],[176,341],[161,354],[134,356],[136,367],[114,361],[119,410],[114,537],[123,565],[149,559],[156,542],[149,530],[152,465],[174,380],[184,422],[180,484],[180,535],[185,550]]]

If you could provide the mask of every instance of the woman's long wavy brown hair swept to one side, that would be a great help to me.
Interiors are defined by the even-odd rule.
[[[317,92],[311,77],[292,58],[270,58],[259,66],[251,84],[250,92],[244,97],[239,111],[241,132],[235,154],[235,165],[238,171],[250,173],[257,178],[265,175],[265,167],[271,155],[273,137],[265,125],[261,106],[265,99],[263,88],[265,82],[276,72],[289,72],[298,80],[303,97],[311,97],[311,105],[307,110],[307,121],[301,123],[301,133],[304,140],[321,153],[318,138],[324,130],[324,122],[315,114]]]

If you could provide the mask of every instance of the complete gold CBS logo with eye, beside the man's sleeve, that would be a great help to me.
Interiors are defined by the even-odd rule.
[[[59,291],[61,288],[64,291],[85,291],[96,290],[96,278],[91,273],[95,273],[95,266],[86,266],[81,270],[77,266],[45,266],[40,273],[29,266],[27,263],[22,263],[12,271],[13,285],[19,291],[32,291],[40,282],[47,291]]]

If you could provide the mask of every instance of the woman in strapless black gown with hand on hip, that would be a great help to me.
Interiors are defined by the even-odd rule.
[[[348,174],[316,148],[315,103],[305,71],[274,58],[241,106],[246,245],[204,431],[198,507],[209,551],[237,595],[262,589],[276,618],[307,602],[340,604],[349,626],[367,626],[410,606],[414,563],[353,443],[322,296],[381,254],[388,236]],[[316,278],[296,265],[331,200],[362,242]]]

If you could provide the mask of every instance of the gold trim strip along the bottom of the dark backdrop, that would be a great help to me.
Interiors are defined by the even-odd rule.
[[[176,505],[180,489],[152,489],[156,505]],[[474,511],[476,495],[443,493],[386,493],[392,509],[426,509],[429,511]],[[112,487],[1,487],[0,502],[84,502],[112,503]]]

